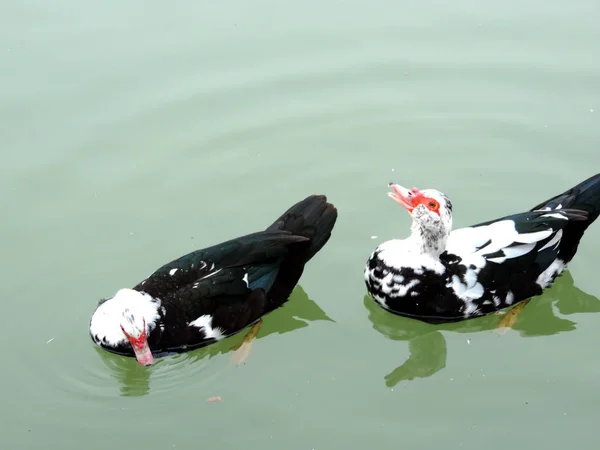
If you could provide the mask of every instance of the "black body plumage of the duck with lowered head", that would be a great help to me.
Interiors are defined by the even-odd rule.
[[[189,326],[201,316],[229,336],[283,305],[336,219],[325,196],[311,195],[266,230],[188,253],[138,283],[133,289],[161,301],[159,322],[148,336],[153,353],[214,342],[202,328]],[[130,346],[105,348],[133,355]]]

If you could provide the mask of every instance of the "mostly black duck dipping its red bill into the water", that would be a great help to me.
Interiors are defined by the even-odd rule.
[[[336,220],[327,198],[311,195],[264,231],[165,264],[133,289],[100,300],[90,320],[92,340],[150,365],[155,355],[236,334],[288,300]]]

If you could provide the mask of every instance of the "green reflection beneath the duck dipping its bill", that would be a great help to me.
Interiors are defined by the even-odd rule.
[[[289,301],[272,313],[263,318],[263,324],[256,336],[260,340],[273,333],[288,333],[290,331],[304,328],[309,322],[326,320],[333,322],[327,314],[304,292],[301,286],[296,286]],[[197,361],[212,358],[219,354],[226,354],[235,350],[242,342],[250,328],[247,327],[234,336],[230,336],[221,342],[193,350],[187,353],[156,359],[151,367],[142,367],[134,358],[115,355],[94,346],[102,361],[108,367],[114,378],[121,385],[121,395],[125,397],[137,397],[147,395],[150,392],[150,378],[157,370],[166,369],[169,377],[173,376],[173,370],[180,364],[190,365]],[[168,366],[168,367],[165,367]],[[201,369],[200,369],[201,370]],[[164,375],[164,374],[162,374]]]

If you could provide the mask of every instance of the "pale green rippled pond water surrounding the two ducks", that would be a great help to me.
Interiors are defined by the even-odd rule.
[[[455,227],[600,171],[592,1],[0,6],[3,449],[597,449],[600,223],[514,329],[365,298],[435,187]],[[99,298],[325,193],[334,234],[243,365],[236,336],[147,369]],[[220,396],[219,402],[208,402]]]

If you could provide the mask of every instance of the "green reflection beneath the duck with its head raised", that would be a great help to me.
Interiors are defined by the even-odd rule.
[[[499,316],[489,315],[464,322],[432,325],[391,314],[376,305],[368,295],[364,297],[364,304],[373,328],[389,339],[408,341],[410,357],[385,376],[385,384],[390,387],[402,380],[429,377],[446,367],[446,340],[440,331],[489,331],[496,328],[499,320]],[[566,271],[552,288],[529,302],[512,329],[524,337],[573,331],[576,323],[558,317],[557,312],[565,315],[597,313],[600,312],[600,300],[575,287],[571,273]]]

